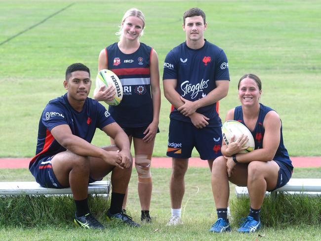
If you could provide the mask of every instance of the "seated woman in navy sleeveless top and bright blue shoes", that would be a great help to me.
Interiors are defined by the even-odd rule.
[[[277,112],[259,103],[261,80],[253,74],[244,75],[239,81],[241,106],[230,110],[226,121],[235,120],[244,124],[252,133],[255,150],[238,154],[246,149],[247,137],[242,135],[227,146],[222,145],[221,156],[213,162],[212,191],[218,220],[211,232],[231,231],[227,219],[230,195],[229,181],[246,186],[250,199],[250,211],[238,232],[255,232],[261,227],[260,210],[266,191],[284,186],[291,178],[293,166],[283,145],[282,123]]]

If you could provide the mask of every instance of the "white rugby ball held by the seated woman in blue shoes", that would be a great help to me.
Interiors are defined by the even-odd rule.
[[[255,142],[250,130],[239,121],[230,120],[230,121],[224,122],[222,126],[222,135],[226,145],[230,144],[230,140],[233,135],[235,136],[234,141],[236,141],[242,134],[248,137],[248,141],[243,146],[243,147],[248,146],[248,148],[246,148],[245,150],[239,153],[248,153],[253,151],[255,148]]]

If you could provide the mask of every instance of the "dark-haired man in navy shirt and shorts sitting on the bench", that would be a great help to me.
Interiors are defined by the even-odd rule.
[[[127,135],[104,106],[88,98],[90,86],[86,66],[77,63],[67,68],[64,81],[67,93],[49,101],[44,108],[36,156],[29,169],[41,186],[71,187],[77,209],[75,224],[93,229],[104,226],[90,214],[87,186],[112,172],[113,192],[107,216],[138,226],[121,211],[132,169]],[[112,137],[116,145],[99,148],[90,144],[96,128]]]

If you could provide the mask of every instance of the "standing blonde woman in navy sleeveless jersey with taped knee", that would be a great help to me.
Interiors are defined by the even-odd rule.
[[[139,41],[144,28],[145,16],[140,10],[131,8],[126,11],[117,33],[120,41],[101,50],[98,70],[113,71],[123,86],[120,105],[110,106],[109,112],[126,132],[130,144],[134,143],[141,221],[150,222],[153,186],[150,168],[155,136],[159,132],[161,90],[157,53]],[[95,91],[94,98],[98,101],[110,100],[114,94],[112,87],[104,91],[100,88]],[[126,199],[123,208],[125,205]]]

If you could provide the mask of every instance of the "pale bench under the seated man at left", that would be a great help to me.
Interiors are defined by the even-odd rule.
[[[104,194],[108,197],[110,181],[88,184],[88,194]],[[72,194],[71,188],[44,188],[37,182],[0,182],[0,195],[64,195]]]

